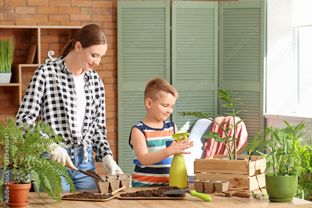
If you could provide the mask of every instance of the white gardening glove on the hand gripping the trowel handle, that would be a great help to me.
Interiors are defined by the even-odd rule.
[[[63,149],[59,144],[52,143],[47,148],[48,153],[50,154],[53,162],[60,162],[62,166],[70,168],[71,170],[77,170],[71,158],[69,157],[67,151]]]

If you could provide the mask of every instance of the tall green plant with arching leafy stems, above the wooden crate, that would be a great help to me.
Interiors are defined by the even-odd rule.
[[[236,114],[241,112],[241,111],[246,111],[246,110],[239,110],[237,112],[234,112],[234,109],[240,105],[240,104],[243,104],[243,103],[239,103],[239,104],[236,104],[236,105],[233,105],[233,102],[236,101],[236,100],[240,100],[240,98],[236,98],[236,99],[233,99],[234,95],[236,94],[232,94],[231,95],[231,92],[228,92],[227,90],[221,90],[221,89],[217,89],[217,96],[224,100],[225,102],[227,102],[228,104],[222,104],[223,107],[226,107],[226,108],[229,108],[231,109],[232,111],[232,114],[229,113],[227,115],[229,116],[232,116],[233,119],[234,119],[234,125],[232,124],[229,124],[229,126],[227,128],[224,128],[224,124],[226,123],[229,123],[229,122],[223,122],[222,124],[219,124],[218,122],[216,122],[216,118],[218,117],[221,117],[221,115],[218,115],[218,114],[215,114],[213,115],[211,118],[209,117],[209,115],[211,114],[211,112],[209,113],[204,113],[203,111],[199,112],[199,111],[195,111],[195,112],[179,112],[178,114],[180,114],[180,116],[182,115],[183,117],[184,116],[195,116],[195,117],[199,117],[199,118],[205,118],[205,119],[208,119],[208,120],[211,120],[213,121],[214,123],[216,123],[221,129],[222,131],[225,133],[226,137],[221,137],[222,135],[216,133],[216,132],[209,132],[208,135],[205,135],[203,136],[203,138],[205,139],[209,139],[209,138],[214,138],[214,140],[216,142],[220,142],[220,143],[223,143],[225,145],[225,147],[227,148],[227,152],[229,153],[229,157],[231,160],[236,160],[237,159],[237,150],[236,150],[236,140],[239,139],[239,138],[236,138],[236,126],[237,124],[241,123],[242,121],[246,121],[246,120],[239,120],[239,121],[235,121],[235,117],[236,117]],[[233,100],[232,100],[233,99]],[[236,122],[236,123],[235,123]],[[234,134],[233,134],[233,137],[232,136],[229,136],[229,131],[234,131]],[[232,152],[232,145],[234,145],[234,151]]]

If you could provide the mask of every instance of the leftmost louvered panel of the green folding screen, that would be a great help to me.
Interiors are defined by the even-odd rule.
[[[128,140],[132,126],[146,115],[145,85],[153,77],[170,80],[170,65],[165,65],[170,60],[170,2],[118,3],[118,163],[132,174]]]

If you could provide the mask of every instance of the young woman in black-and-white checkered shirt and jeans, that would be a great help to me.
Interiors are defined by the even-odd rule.
[[[37,68],[16,117],[17,124],[32,125],[39,116],[66,139],[62,146],[51,144],[42,156],[51,156],[63,166],[67,163],[76,190],[96,189],[92,177],[71,170],[76,167],[95,171],[95,162],[103,162],[108,175],[123,173],[106,140],[104,85],[92,69],[99,65],[108,46],[101,27],[82,27],[58,59]],[[63,190],[69,190],[69,185],[62,182]]]

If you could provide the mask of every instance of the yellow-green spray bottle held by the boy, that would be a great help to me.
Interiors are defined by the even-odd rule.
[[[172,138],[180,142],[188,138],[189,135],[190,133],[175,133],[172,134]],[[186,188],[188,186],[188,172],[183,154],[173,155],[169,171],[169,186],[178,186],[179,188]]]

